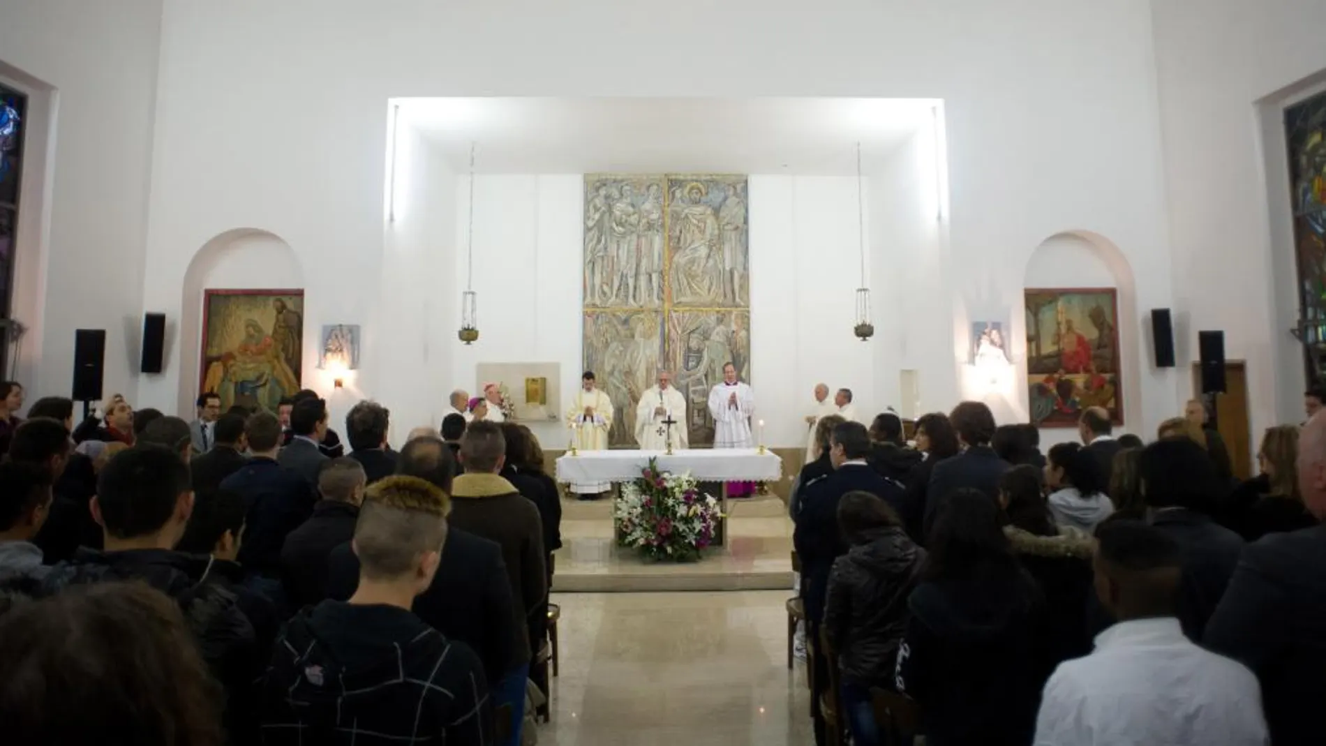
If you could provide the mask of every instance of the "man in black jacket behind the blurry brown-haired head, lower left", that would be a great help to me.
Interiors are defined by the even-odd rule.
[[[253,625],[235,595],[210,576],[211,558],[174,551],[194,509],[188,466],[179,454],[141,445],[102,469],[93,515],[105,529],[105,551],[78,550],[54,566],[40,594],[70,583],[143,580],[175,599],[198,639],[203,660],[225,688],[231,741],[253,742],[251,685],[259,670]]]

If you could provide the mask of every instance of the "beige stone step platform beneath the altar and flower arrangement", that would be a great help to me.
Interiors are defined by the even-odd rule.
[[[792,590],[792,521],[782,500],[728,501],[724,546],[699,562],[648,562],[613,537],[613,500],[562,500],[554,592]]]

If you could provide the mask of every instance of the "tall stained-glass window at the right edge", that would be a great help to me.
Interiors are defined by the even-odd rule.
[[[1303,321],[1326,323],[1326,93],[1285,110],[1298,309]],[[1326,342],[1321,327],[1309,327],[1305,345],[1307,379],[1321,378],[1310,345]]]

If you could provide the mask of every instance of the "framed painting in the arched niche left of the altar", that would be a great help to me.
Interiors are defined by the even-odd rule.
[[[300,390],[304,290],[204,290],[200,391],[274,412]]]

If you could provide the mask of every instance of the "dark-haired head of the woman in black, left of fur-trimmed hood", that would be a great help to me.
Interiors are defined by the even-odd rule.
[[[971,580],[1017,567],[998,506],[976,489],[953,490],[940,504],[926,549],[928,580]]]

